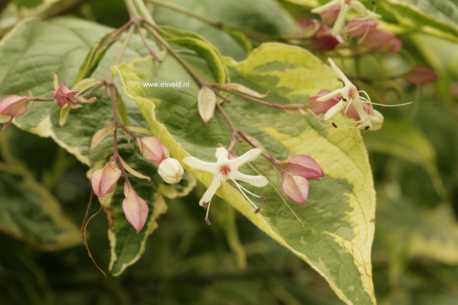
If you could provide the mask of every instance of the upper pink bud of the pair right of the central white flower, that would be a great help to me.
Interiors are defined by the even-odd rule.
[[[308,155],[295,155],[279,162],[278,165],[293,175],[304,177],[305,179],[320,180],[320,177],[324,177],[321,166]]]

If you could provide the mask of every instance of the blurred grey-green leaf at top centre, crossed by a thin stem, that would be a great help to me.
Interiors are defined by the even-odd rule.
[[[291,34],[298,29],[293,17],[276,0],[171,0],[212,21],[222,21],[230,26],[256,30],[271,35]],[[221,54],[234,59],[246,58],[245,48],[238,38],[190,16],[155,5],[154,20],[158,24],[197,32],[207,38]]]

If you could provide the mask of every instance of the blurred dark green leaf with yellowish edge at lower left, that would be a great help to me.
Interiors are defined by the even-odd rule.
[[[9,152],[7,137],[0,162],[0,231],[42,250],[81,244],[81,232],[48,189]]]

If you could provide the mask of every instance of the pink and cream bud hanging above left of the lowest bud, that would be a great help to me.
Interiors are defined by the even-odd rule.
[[[94,171],[91,177],[91,184],[94,193],[100,198],[114,191],[118,179],[121,177],[121,170],[114,161],[109,161],[104,168]]]

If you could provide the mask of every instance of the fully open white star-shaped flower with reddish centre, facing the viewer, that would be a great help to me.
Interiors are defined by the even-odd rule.
[[[250,183],[255,187],[264,187],[267,185],[267,183],[269,183],[267,178],[264,176],[250,176],[242,174],[239,171],[240,166],[243,166],[247,162],[254,161],[259,155],[261,155],[261,152],[262,150],[253,148],[251,150],[248,150],[245,154],[241,155],[240,157],[229,160],[229,152],[224,147],[220,147],[216,150],[215,156],[217,161],[214,163],[202,161],[194,157],[186,157],[182,160],[184,164],[186,164],[194,170],[207,171],[213,175],[212,183],[210,184],[207,191],[203,194],[201,200],[199,201],[199,204],[204,208],[208,206],[207,217],[205,217],[205,221],[207,222],[207,224],[210,224],[210,221],[208,221],[208,210],[212,197],[216,193],[218,187],[221,184],[224,185],[224,183],[228,179],[232,180],[235,183],[235,185],[239,188],[240,192],[245,196],[248,202],[250,202],[253,205],[253,207],[256,209],[255,213],[259,212],[260,208],[258,208],[256,204],[254,204],[251,201],[251,199],[248,198],[248,196],[246,196],[244,190],[245,192],[257,198],[261,198],[262,201],[265,201],[265,198],[251,193],[250,191],[245,189],[245,187],[242,187],[236,180]]]

